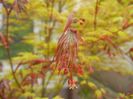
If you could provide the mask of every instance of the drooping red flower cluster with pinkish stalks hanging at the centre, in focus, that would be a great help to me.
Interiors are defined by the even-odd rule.
[[[73,73],[79,72],[79,74],[82,74],[81,66],[77,65],[78,42],[81,40],[81,37],[78,31],[71,27],[73,23],[73,14],[74,13],[68,17],[64,33],[59,38],[54,59],[59,73],[63,71],[64,74],[69,75],[68,85],[70,89],[76,87]]]

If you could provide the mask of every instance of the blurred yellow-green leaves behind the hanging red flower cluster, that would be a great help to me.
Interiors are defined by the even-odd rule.
[[[12,2],[12,0],[8,2]],[[91,79],[91,75],[87,69],[90,65],[96,71],[114,71],[120,72],[121,75],[133,74],[132,70],[128,70],[122,66],[122,62],[121,64],[116,63],[115,68],[110,66],[113,63],[112,60],[116,60],[115,62],[117,62],[121,57],[124,57],[123,55],[129,56],[127,52],[133,47],[133,45],[131,47],[125,45],[129,42],[133,42],[132,25],[123,28],[123,26],[127,24],[125,20],[128,21],[128,24],[133,24],[132,0],[99,0],[97,14],[95,12],[96,0],[30,0],[26,5],[25,12],[16,13],[13,11],[10,16],[9,32],[13,40],[11,43],[13,63],[18,64],[21,61],[26,62],[38,58],[51,59],[55,54],[57,41],[63,32],[67,16],[75,9],[77,9],[77,11],[74,17],[76,19],[82,18],[85,20],[83,24],[72,24],[72,27],[79,31],[85,42],[84,44],[80,44],[78,49],[78,63],[82,64],[84,68],[83,77],[76,77],[83,90],[81,90],[82,92],[80,92],[80,94],[84,97],[83,99],[85,99],[87,97],[86,94],[91,90],[91,93],[94,95],[91,94],[92,96],[90,96],[90,94],[88,94],[88,97],[98,99],[105,90],[102,89],[103,86],[97,86],[97,83]],[[5,17],[4,9],[2,13]],[[4,18],[3,21],[5,22],[5,20],[6,18]],[[38,25],[40,32],[37,35],[33,33],[34,21],[41,22],[41,24]],[[94,21],[96,21],[96,26]],[[3,25],[1,31],[4,33],[5,23]],[[103,35],[111,37],[112,43],[117,47],[115,48],[106,40],[99,40]],[[108,53],[103,50],[105,45],[115,56],[109,57]],[[123,50],[121,47],[125,49]],[[0,59],[7,59],[3,46],[0,46]],[[38,73],[42,69],[41,67],[46,64],[36,65],[33,67],[33,71],[27,70],[28,65],[24,65],[16,72],[20,82],[22,81],[19,75],[20,73],[22,73],[24,77],[30,73]],[[46,72],[46,80],[50,76],[50,72],[51,71]],[[11,80],[10,70],[4,77],[1,77],[1,79]],[[54,88],[51,89],[53,93],[55,93],[53,97],[58,95],[58,92],[63,88],[64,82],[66,81],[64,76],[60,78],[58,77],[58,73],[55,73],[52,80],[57,81],[57,79],[61,79],[62,82],[55,82]],[[15,82],[11,83],[11,87],[12,89],[16,88]],[[40,98],[44,85],[39,87],[38,84],[34,86],[27,85],[23,86],[23,88],[26,90],[26,93],[16,92],[14,96],[24,99],[29,96],[34,97],[33,99],[45,99]],[[18,89],[16,88],[16,90]],[[51,90],[46,91],[45,95],[49,95]],[[125,93],[121,92],[116,93],[116,96],[122,96],[125,97],[125,99],[132,97],[128,97]],[[88,97],[86,99],[88,99]],[[55,99],[61,98],[57,96]]]

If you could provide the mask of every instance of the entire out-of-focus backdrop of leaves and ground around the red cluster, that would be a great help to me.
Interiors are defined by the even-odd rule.
[[[132,0],[15,1],[17,3],[0,1],[0,33],[6,37],[8,28],[11,57],[9,59],[1,36],[0,88],[8,90],[3,87],[3,81],[8,81],[9,84],[4,84],[10,87],[6,98],[1,99],[133,99]],[[9,11],[12,8],[9,15],[5,7]],[[35,64],[32,69],[27,62],[52,60],[67,18],[73,11],[74,18],[79,21],[73,23],[72,28],[85,43],[79,44],[77,59],[83,75],[74,75],[78,88],[70,90],[65,75],[55,73],[51,77],[51,70],[45,71],[46,62]],[[10,60],[24,93],[16,88]],[[24,80],[26,77],[28,81]],[[14,95],[9,96],[11,92]]]

